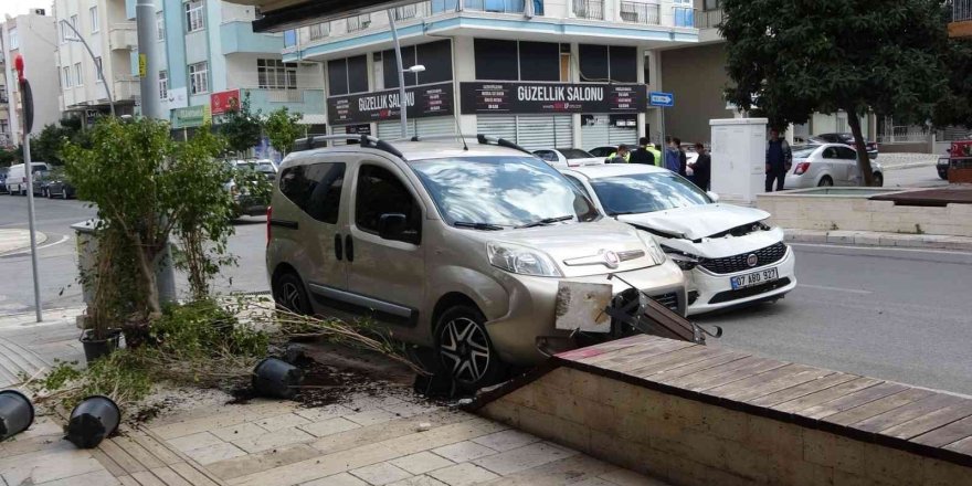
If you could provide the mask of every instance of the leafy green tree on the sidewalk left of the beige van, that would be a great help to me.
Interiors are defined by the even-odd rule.
[[[65,171],[78,197],[98,208],[98,230],[120,233],[123,246],[134,249],[134,294],[149,321],[161,315],[156,271],[170,234],[187,220],[225,213],[231,202],[213,196],[225,192],[224,175],[212,171],[209,177],[199,170],[204,162],[213,163],[221,149],[209,126],[203,131],[177,144],[165,122],[103,118],[92,130],[92,148],[67,144],[63,149]]]

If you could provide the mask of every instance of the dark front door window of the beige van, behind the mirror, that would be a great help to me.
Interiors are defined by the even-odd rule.
[[[378,234],[378,221],[390,213],[404,214],[404,234],[414,235],[411,241],[421,241],[422,210],[412,193],[387,169],[362,165],[358,170],[355,224],[361,231]]]

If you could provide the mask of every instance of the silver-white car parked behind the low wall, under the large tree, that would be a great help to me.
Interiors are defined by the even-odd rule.
[[[831,186],[859,186],[857,150],[844,144],[793,146],[793,167],[786,172],[784,189]],[[870,161],[875,186],[884,186],[884,168]]]

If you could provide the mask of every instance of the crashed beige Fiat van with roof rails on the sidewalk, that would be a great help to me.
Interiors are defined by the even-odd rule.
[[[506,140],[471,138],[466,150],[362,136],[294,151],[271,208],[266,267],[279,306],[373,318],[397,339],[434,348],[467,387],[574,346],[575,329],[556,325],[561,282],[637,298],[609,279],[616,274],[685,308],[683,272],[651,234],[603,218]]]

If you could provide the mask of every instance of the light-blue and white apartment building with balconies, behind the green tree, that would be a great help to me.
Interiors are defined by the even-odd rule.
[[[134,0],[130,12],[134,19]],[[159,103],[173,131],[190,134],[245,96],[251,108],[268,113],[283,106],[303,114],[314,130],[324,124],[321,65],[284,62],[281,33],[254,33],[253,7],[219,0],[157,0]],[[181,134],[181,135],[180,135]]]

